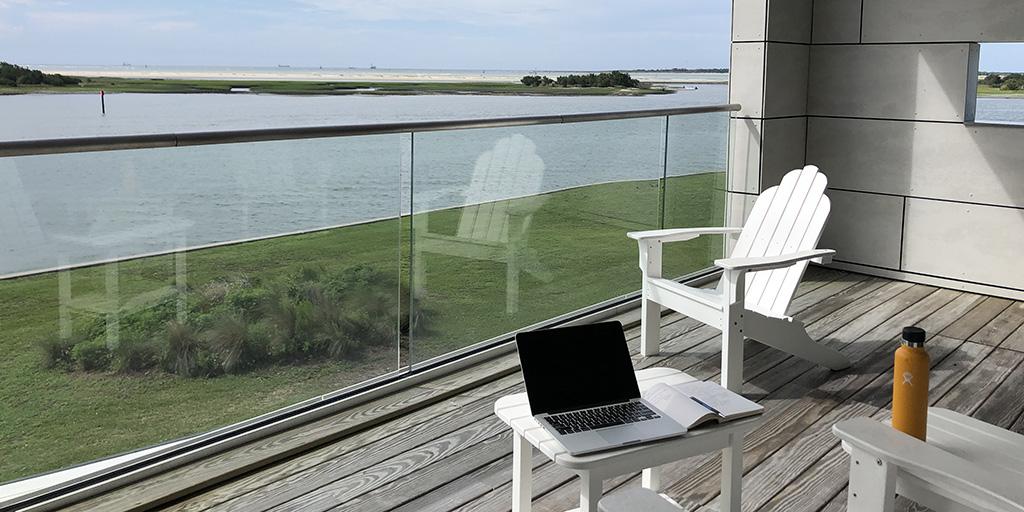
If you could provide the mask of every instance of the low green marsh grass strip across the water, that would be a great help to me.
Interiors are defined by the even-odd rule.
[[[609,96],[668,94],[662,87],[527,87],[517,83],[493,82],[314,82],[261,80],[184,80],[79,77],[79,85],[59,87],[27,85],[0,86],[0,94],[137,92],[137,93],[229,93],[231,88],[248,88],[263,94],[534,94],[545,96]]]

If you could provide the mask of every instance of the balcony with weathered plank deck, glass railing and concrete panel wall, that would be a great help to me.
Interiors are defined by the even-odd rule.
[[[728,105],[0,143],[0,480],[27,478],[0,507],[508,510],[511,334],[616,317],[637,368],[716,379],[719,333],[675,313],[636,355],[624,234],[738,225],[804,164],[838,256],[790,313],[854,364],[746,342],[766,421],[743,510],[844,509],[830,427],[886,418],[907,325],[932,335],[933,406],[1024,432],[1021,128],[976,123],[972,91],[978,43],[1024,38],[1022,11],[752,4]],[[673,248],[666,273],[700,283],[726,249]],[[536,509],[574,506],[573,476],[535,466]],[[664,486],[716,510],[718,471]]]

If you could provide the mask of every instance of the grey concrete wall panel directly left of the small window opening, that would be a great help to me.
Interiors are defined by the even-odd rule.
[[[808,114],[964,121],[971,49],[968,43],[812,46]]]

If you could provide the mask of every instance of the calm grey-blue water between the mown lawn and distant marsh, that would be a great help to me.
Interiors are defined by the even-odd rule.
[[[722,103],[642,97],[0,96],[0,139],[338,125]],[[724,170],[727,115],[673,118],[669,171]],[[660,175],[665,120],[0,159],[0,273]],[[413,169],[416,197],[408,186]],[[489,183],[488,173],[515,173]],[[481,181],[481,177],[484,179]]]

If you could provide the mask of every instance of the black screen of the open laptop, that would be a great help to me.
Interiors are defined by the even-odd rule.
[[[640,397],[617,322],[519,333],[515,339],[535,415]]]

